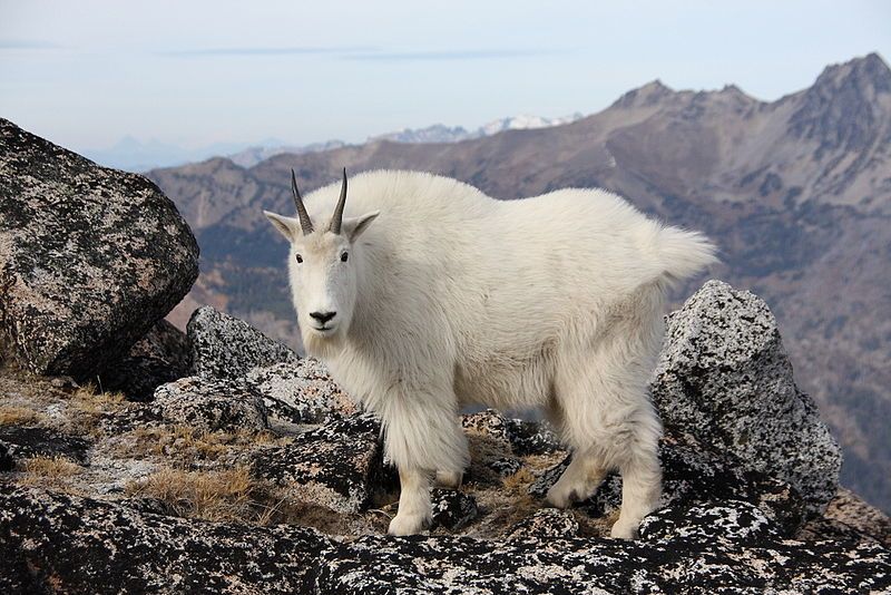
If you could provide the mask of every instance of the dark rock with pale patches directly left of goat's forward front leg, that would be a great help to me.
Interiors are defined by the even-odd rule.
[[[392,486],[383,466],[381,427],[371,416],[332,421],[297,436],[286,446],[258,450],[252,472],[268,479],[296,499],[340,513],[368,507],[374,491]]]

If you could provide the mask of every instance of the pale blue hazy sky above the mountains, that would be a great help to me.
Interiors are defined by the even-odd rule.
[[[0,117],[76,150],[590,114],[659,78],[775,99],[891,58],[887,1],[0,0]]]

